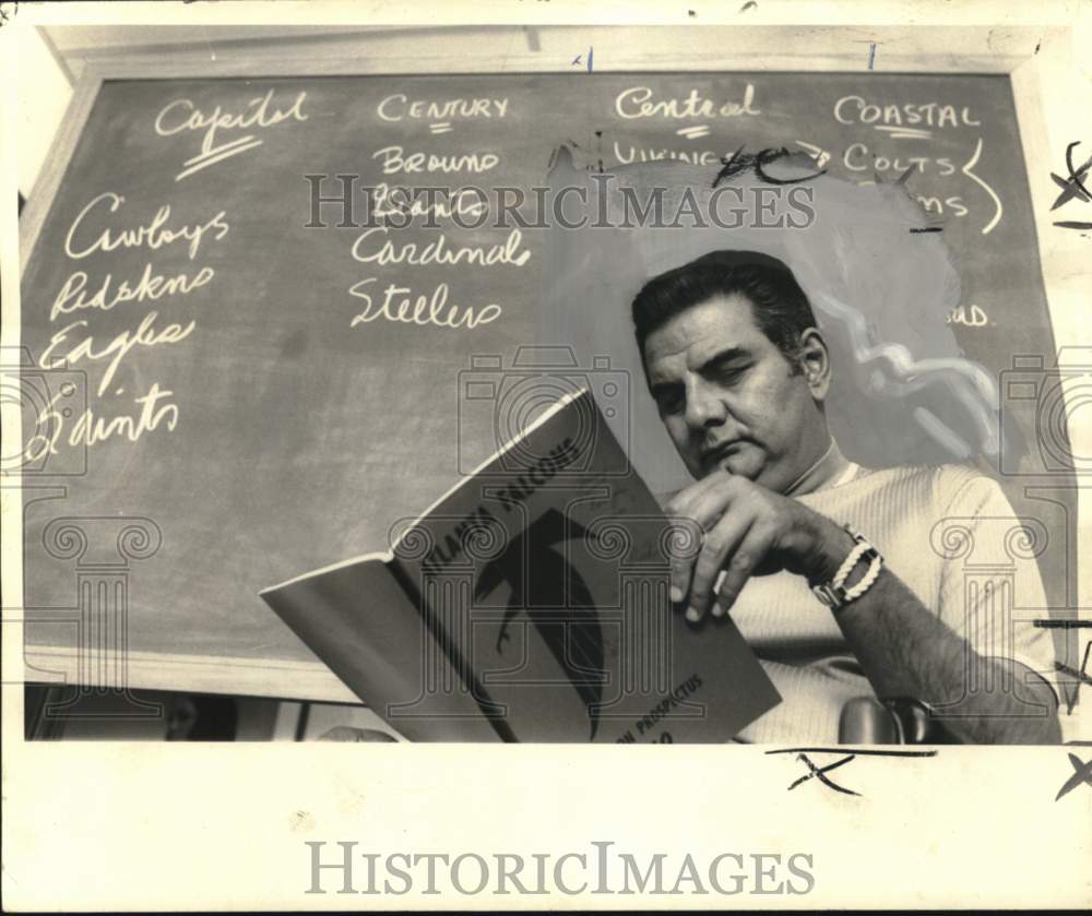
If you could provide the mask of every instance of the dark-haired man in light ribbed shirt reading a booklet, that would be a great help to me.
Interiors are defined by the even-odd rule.
[[[834,741],[846,702],[873,693],[912,699],[956,740],[1060,740],[1040,674],[1054,669],[1048,631],[1012,630],[994,600],[1004,585],[965,590],[960,560],[936,549],[937,523],[959,519],[976,558],[1011,563],[986,524],[1013,519],[1008,501],[970,468],[866,471],[842,455],[830,355],[788,267],[713,252],[651,279],[632,311],[649,390],[697,480],[665,509],[704,531],[700,555],[674,562],[672,599],[692,621],[731,612],[784,698],[740,740]],[[1034,559],[1016,590],[1017,607],[1045,606]]]

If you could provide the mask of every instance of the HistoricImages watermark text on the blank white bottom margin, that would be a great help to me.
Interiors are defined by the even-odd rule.
[[[346,840],[304,845],[308,894],[793,896],[816,887],[811,853],[639,854],[613,849],[609,840],[560,855],[383,854]]]

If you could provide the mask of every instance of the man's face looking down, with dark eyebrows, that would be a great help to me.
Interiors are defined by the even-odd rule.
[[[826,448],[802,373],[755,323],[750,300],[715,296],[644,342],[649,388],[687,468],[723,468],[784,492]]]

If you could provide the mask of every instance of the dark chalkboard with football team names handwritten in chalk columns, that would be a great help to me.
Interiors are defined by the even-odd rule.
[[[369,233],[360,198],[346,214],[312,195],[339,175],[532,189],[562,144],[591,168],[786,146],[857,181],[905,175],[958,260],[966,356],[996,378],[1054,353],[1007,78],[106,81],[26,240],[27,642],[83,639],[106,570],[133,653],[313,663],[258,591],[384,548],[496,448],[467,383],[571,342],[536,338],[546,229],[441,214]],[[1072,534],[1072,499],[1031,502]],[[1047,585],[1063,603],[1066,575]]]

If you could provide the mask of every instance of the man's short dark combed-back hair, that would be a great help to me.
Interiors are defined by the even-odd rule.
[[[811,304],[783,261],[758,251],[711,251],[645,283],[633,299],[642,357],[649,334],[675,316],[714,296],[732,295],[750,301],[755,323],[798,371],[800,335],[816,326]]]

